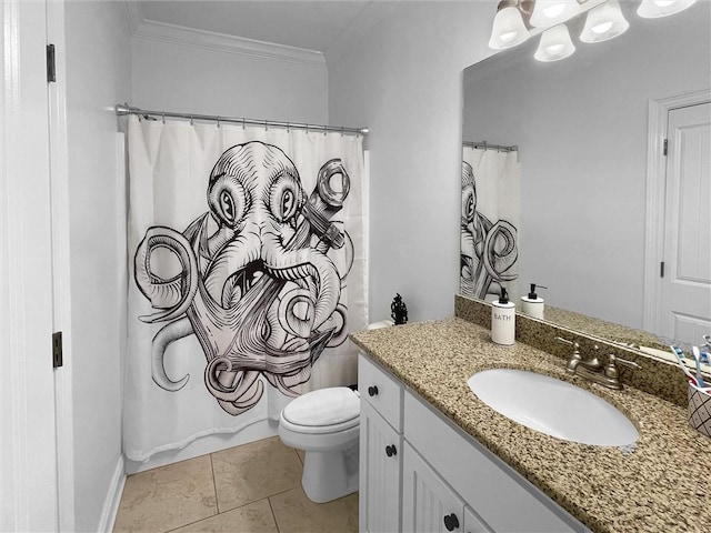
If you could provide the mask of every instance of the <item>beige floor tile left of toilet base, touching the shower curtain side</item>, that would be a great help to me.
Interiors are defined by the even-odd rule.
[[[301,461],[278,436],[212,454],[220,512],[301,486]]]

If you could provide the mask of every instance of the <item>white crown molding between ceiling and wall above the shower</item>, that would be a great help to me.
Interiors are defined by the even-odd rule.
[[[140,2],[124,0],[131,34],[138,39],[186,44],[221,52],[326,68],[322,52],[148,20]]]

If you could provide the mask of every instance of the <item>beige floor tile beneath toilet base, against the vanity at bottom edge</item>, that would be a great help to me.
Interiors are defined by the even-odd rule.
[[[358,493],[328,503],[313,503],[299,486],[269,501],[280,533],[358,531]]]

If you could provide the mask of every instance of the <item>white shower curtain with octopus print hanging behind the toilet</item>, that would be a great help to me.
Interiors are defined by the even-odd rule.
[[[129,459],[357,382],[360,137],[131,117],[129,174]]]

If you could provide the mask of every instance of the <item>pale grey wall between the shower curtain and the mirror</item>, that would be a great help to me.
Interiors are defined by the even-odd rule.
[[[370,320],[459,290],[462,70],[490,54],[495,1],[375,2],[327,52],[329,120],[370,128]]]

